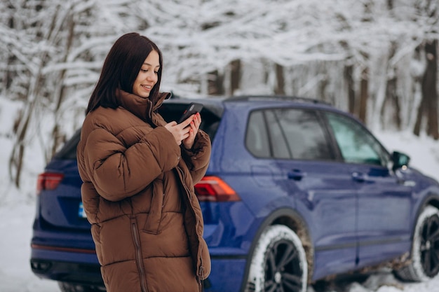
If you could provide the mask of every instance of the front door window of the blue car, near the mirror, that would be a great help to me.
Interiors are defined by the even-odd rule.
[[[381,145],[360,123],[336,113],[325,114],[344,161],[386,166]]]

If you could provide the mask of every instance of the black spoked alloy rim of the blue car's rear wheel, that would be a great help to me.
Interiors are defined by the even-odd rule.
[[[264,292],[300,292],[302,274],[299,253],[292,242],[278,241],[266,252]]]

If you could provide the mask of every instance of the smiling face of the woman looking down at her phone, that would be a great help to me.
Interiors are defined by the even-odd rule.
[[[135,78],[133,85],[133,93],[135,95],[143,98],[149,97],[149,92],[151,92],[157,83],[159,68],[160,62],[158,60],[158,53],[152,50],[144,60],[139,74],[137,74],[137,78]]]

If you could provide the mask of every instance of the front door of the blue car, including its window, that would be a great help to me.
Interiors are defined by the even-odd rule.
[[[391,157],[353,118],[326,113],[358,193],[358,267],[410,250],[412,187],[391,170]]]

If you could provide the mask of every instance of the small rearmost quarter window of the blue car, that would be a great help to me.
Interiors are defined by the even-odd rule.
[[[245,134],[245,146],[248,151],[259,158],[269,158],[269,137],[266,132],[264,114],[262,111],[253,111],[250,114]]]

